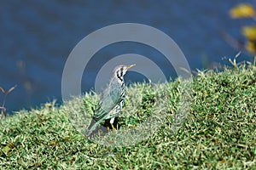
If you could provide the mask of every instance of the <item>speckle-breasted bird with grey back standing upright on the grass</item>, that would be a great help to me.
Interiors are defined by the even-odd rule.
[[[89,137],[105,120],[110,119],[110,124],[113,127],[114,118],[119,115],[119,112],[125,104],[125,80],[126,71],[131,69],[133,65],[117,65],[113,69],[113,75],[110,78],[107,88],[103,91],[101,98],[96,106],[96,111],[87,127],[85,135]]]

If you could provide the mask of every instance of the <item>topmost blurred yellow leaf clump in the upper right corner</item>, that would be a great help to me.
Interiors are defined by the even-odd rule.
[[[250,18],[255,16],[255,11],[252,5],[247,3],[241,3],[234,8],[231,8],[230,15],[232,18]]]

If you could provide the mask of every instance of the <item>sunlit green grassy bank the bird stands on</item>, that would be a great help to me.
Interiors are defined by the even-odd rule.
[[[175,113],[188,109],[183,103],[178,107],[183,96],[189,95],[184,94],[183,84],[191,89],[190,111],[181,119],[183,124],[173,126]],[[99,139],[103,145],[76,130],[83,133],[88,126],[96,94],[85,94],[59,107],[52,102],[36,110],[18,111],[0,121],[0,169],[255,169],[255,84],[253,65],[219,73],[202,71],[190,84],[134,84],[127,89],[119,130]],[[148,120],[153,125],[145,123]],[[127,129],[132,132],[141,123],[150,132],[148,139],[115,147],[140,139]],[[128,138],[116,138],[123,134]]]

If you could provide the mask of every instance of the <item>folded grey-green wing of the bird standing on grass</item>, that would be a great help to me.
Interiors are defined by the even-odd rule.
[[[109,111],[112,111],[116,105],[119,105],[121,99],[120,85],[114,83],[109,84],[99,100],[93,118],[99,121],[102,117],[107,116]]]

